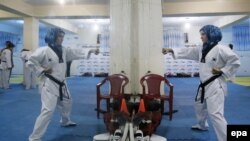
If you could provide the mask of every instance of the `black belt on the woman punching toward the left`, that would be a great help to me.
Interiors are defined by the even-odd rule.
[[[204,83],[200,83],[199,87],[198,87],[198,90],[197,90],[197,95],[195,97],[195,101],[197,101],[197,96],[199,94],[199,90],[201,88],[201,103],[203,103],[204,101],[204,98],[205,98],[205,86],[208,85],[210,82],[214,81],[216,78],[220,77],[222,75],[221,74],[217,74],[217,75],[214,75],[212,77],[210,77],[207,81],[205,81]]]

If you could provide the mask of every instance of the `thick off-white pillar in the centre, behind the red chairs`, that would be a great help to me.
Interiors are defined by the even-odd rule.
[[[164,75],[161,0],[110,1],[110,70],[125,71],[128,93],[141,93],[148,71]]]

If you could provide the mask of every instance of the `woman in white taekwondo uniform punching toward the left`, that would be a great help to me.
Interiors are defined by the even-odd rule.
[[[240,66],[239,57],[227,46],[219,45],[221,31],[213,25],[200,29],[202,47],[162,50],[172,53],[174,58],[190,59],[199,62],[199,85],[195,98],[195,111],[198,123],[195,130],[207,130],[207,116],[210,117],[217,139],[226,141],[227,121],[224,117],[224,99],[227,93],[226,79],[234,76]]]

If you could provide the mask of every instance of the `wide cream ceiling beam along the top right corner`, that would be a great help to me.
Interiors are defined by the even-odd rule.
[[[163,16],[229,15],[250,13],[250,0],[207,0],[163,3]]]

